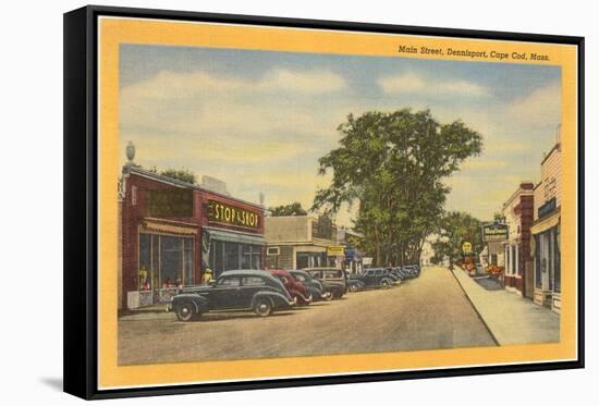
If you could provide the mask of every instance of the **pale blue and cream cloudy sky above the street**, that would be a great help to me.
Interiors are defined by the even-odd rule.
[[[136,161],[187,168],[268,206],[311,204],[317,159],[347,113],[429,108],[485,138],[448,180],[448,209],[489,219],[519,181],[538,181],[560,123],[557,66],[123,45],[120,139]],[[349,223],[344,210],[339,221]]]

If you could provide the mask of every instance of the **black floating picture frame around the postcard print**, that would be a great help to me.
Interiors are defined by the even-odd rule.
[[[185,384],[139,389],[98,390],[97,386],[97,38],[99,16],[157,19],[258,26],[332,29],[365,33],[426,35],[436,37],[500,39],[573,45],[577,53],[577,346],[572,361],[509,366],[449,368],[427,371],[400,371],[331,376],[319,378],[273,379],[253,382]],[[172,10],[149,10],[89,5],[64,14],[64,392],[86,399],[240,391],[282,386],[428,379],[583,368],[585,359],[584,248],[585,248],[585,39],[487,30],[416,27],[372,23],[231,15]]]

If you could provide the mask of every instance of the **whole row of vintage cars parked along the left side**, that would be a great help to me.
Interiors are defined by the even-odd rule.
[[[208,285],[181,288],[169,310],[181,321],[224,309],[250,309],[267,317],[279,309],[338,299],[347,292],[389,288],[419,274],[419,266],[368,268],[356,274],[337,268],[225,271]]]

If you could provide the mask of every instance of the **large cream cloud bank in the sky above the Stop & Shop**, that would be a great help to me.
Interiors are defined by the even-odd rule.
[[[345,87],[343,77],[323,70],[272,69],[255,82],[162,71],[121,90],[121,127],[210,137],[278,133],[285,138],[290,131],[304,131],[314,137],[334,132],[343,119],[315,109],[314,96]]]

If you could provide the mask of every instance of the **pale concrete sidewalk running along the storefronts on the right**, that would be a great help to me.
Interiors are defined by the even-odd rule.
[[[499,345],[560,341],[560,316],[514,293],[487,291],[463,270],[453,274]]]

